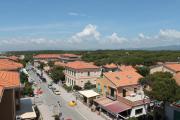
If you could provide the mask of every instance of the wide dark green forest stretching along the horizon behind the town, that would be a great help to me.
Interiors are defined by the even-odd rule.
[[[14,51],[7,52],[12,55],[35,54],[61,54],[73,53],[81,54],[82,60],[94,62],[96,65],[107,63],[146,66],[154,65],[156,62],[176,62],[180,61],[180,51],[145,51],[145,50],[96,50],[96,51],[63,51],[63,50],[44,50],[44,51]],[[178,59],[179,58],[179,59]]]

